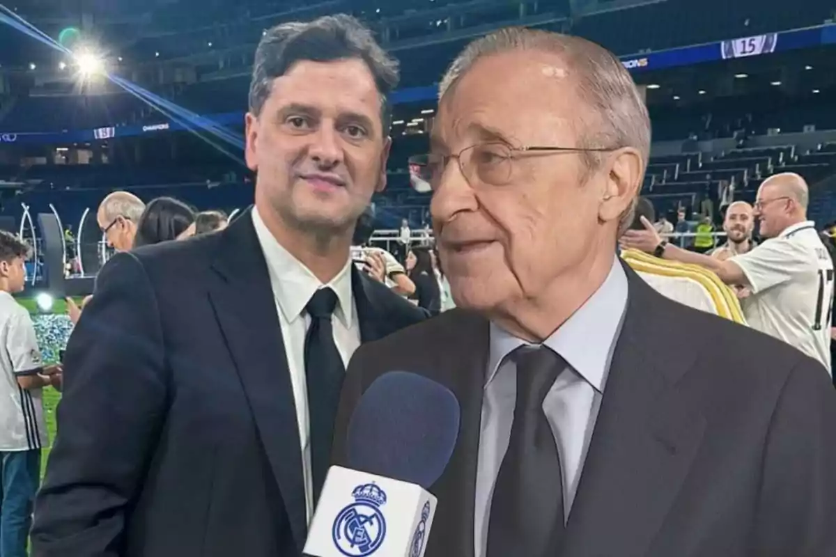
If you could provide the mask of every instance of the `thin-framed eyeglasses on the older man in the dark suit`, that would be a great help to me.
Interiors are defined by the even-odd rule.
[[[507,185],[512,178],[514,160],[536,154],[560,153],[609,153],[618,147],[583,149],[580,147],[511,147],[504,143],[475,144],[461,149],[458,154],[418,154],[409,159],[410,175],[425,180],[432,189],[441,180],[441,175],[451,159],[458,160],[461,175],[470,185]]]

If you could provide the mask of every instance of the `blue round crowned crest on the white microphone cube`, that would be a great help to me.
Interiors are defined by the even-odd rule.
[[[363,484],[351,495],[354,503],[339,511],[334,520],[334,544],[348,557],[366,557],[375,553],[386,537],[386,519],[380,512],[386,494],[375,484]]]

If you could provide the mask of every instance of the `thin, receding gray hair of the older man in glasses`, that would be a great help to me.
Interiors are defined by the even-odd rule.
[[[589,111],[578,111],[579,144],[584,148],[633,147],[641,154],[642,179],[650,159],[650,116],[630,72],[604,47],[585,38],[538,29],[504,28],[468,44],[447,69],[439,99],[456,86],[480,58],[513,50],[554,53],[576,70],[578,99]],[[601,164],[599,153],[582,153],[589,172]],[[630,227],[636,200],[619,221],[619,236]]]

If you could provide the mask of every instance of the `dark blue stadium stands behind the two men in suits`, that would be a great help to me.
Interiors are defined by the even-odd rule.
[[[145,8],[137,3],[131,3],[130,8],[122,4],[91,8],[102,15],[99,41],[120,45],[118,60],[113,59],[115,52],[110,59],[115,71],[130,75],[136,83],[194,114],[229,114],[227,121],[237,124],[227,125],[227,129],[239,138],[241,115],[247,108],[252,48],[263,28],[277,21],[339,11],[354,13],[373,25],[386,48],[400,60],[405,93],[405,100],[396,101],[399,104],[395,106],[389,187],[375,197],[384,227],[395,225],[402,217],[414,226],[426,220],[429,198],[410,187],[407,159],[427,149],[426,131],[431,127],[435,104],[433,84],[452,56],[480,33],[505,24],[528,23],[576,33],[635,58],[636,53],[650,55],[665,48],[822,25],[833,17],[828,0],[808,0],[789,13],[786,4],[776,0],[706,0],[699,4],[686,0],[542,0],[535,4],[501,0],[249,0],[234,5],[207,0],[199,13],[190,9],[191,4],[180,2]],[[51,0],[38,0],[22,6],[21,13],[49,32],[61,24],[62,15],[68,15],[62,9]],[[114,14],[120,18],[111,17]],[[24,39],[21,33],[8,31],[0,33],[0,47]],[[48,61],[53,69],[28,71],[26,57],[39,66],[45,63],[46,58],[38,57],[47,54],[42,45],[36,46],[15,52],[0,49],[0,63],[11,68],[3,81],[5,88],[0,88],[0,133],[48,133],[58,140],[43,148],[0,149],[0,180],[5,182],[0,189],[0,213],[19,219],[21,204],[33,211],[52,205],[65,220],[77,222],[103,192],[115,189],[131,190],[144,198],[176,195],[200,208],[233,210],[249,203],[252,174],[242,165],[240,150],[232,149],[235,156],[230,160],[183,132],[121,138],[123,127],[139,126],[141,135],[143,125],[167,122],[168,116],[113,84],[85,90],[85,94],[67,94],[71,80],[54,77],[59,73],[54,70],[54,55]],[[686,64],[681,71],[636,73],[640,83],[657,83],[647,91],[655,143],[643,187],[657,210],[696,212],[704,200],[711,200],[719,216],[732,190],[734,199],[752,200],[762,180],[782,171],[798,172],[813,185],[829,184],[829,177],[836,172],[836,136],[821,130],[836,129],[836,101],[824,90],[833,84],[827,62],[833,58],[831,53],[822,46],[771,57],[703,63],[699,72],[696,66]],[[812,70],[811,60],[815,71],[799,69],[806,66]],[[742,69],[752,76],[737,79]],[[776,73],[788,83],[770,87],[780,83],[776,82],[779,78],[767,77]],[[813,77],[821,80],[814,86],[825,94],[803,91]],[[714,87],[706,87],[712,89],[708,94],[705,90],[697,94],[702,83]],[[416,96],[417,89],[410,88],[426,91]],[[104,140],[93,143],[89,139],[60,140],[61,134],[69,138],[84,129],[114,131],[106,131]],[[52,152],[44,156],[44,149]],[[90,153],[82,161],[78,156],[62,157],[57,152],[61,149],[64,153],[68,149]],[[90,164],[79,164],[86,162]],[[832,220],[830,211],[836,202],[831,189],[813,190],[812,212],[817,220]]]

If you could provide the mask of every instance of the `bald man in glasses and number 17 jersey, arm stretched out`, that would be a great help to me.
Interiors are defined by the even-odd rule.
[[[728,285],[751,292],[742,303],[747,323],[780,338],[830,369],[833,261],[807,220],[808,187],[793,173],[774,175],[757,190],[754,215],[763,242],[747,253],[719,261],[663,240],[646,219],[645,230],[628,230],[622,245],[672,261],[696,263]]]

